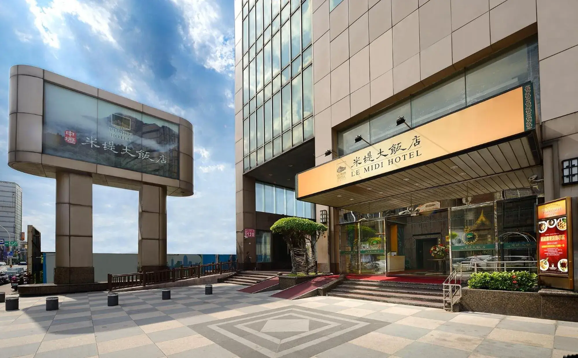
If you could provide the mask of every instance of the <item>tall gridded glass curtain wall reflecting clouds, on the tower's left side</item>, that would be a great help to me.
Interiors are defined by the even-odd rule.
[[[243,2],[243,171],[313,137],[312,1]]]

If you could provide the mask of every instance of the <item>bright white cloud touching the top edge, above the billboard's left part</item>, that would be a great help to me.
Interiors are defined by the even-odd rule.
[[[118,47],[113,36],[113,27],[117,24],[112,14],[116,2],[112,0],[99,2],[53,0],[47,6],[39,6],[36,0],[26,0],[26,2],[34,16],[34,25],[40,32],[42,41],[50,47],[59,49],[61,38],[74,38],[66,24],[67,15],[76,17],[77,20],[87,24],[94,34],[110,42],[114,47]]]

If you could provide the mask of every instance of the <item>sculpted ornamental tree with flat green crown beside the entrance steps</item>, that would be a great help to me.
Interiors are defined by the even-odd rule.
[[[271,226],[273,234],[280,234],[291,254],[291,274],[317,273],[315,244],[327,226],[301,217],[283,217]]]

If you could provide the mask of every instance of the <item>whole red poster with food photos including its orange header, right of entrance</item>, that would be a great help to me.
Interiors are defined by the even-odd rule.
[[[566,200],[538,206],[538,268],[541,275],[568,277],[568,219],[565,214]]]

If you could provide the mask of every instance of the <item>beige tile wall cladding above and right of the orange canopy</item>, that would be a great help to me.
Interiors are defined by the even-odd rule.
[[[546,198],[577,195],[559,174],[560,160],[578,157],[576,12],[572,0],[343,0],[331,12],[314,0],[316,164],[334,157],[338,130],[537,34]],[[243,203],[237,213],[247,216]]]

